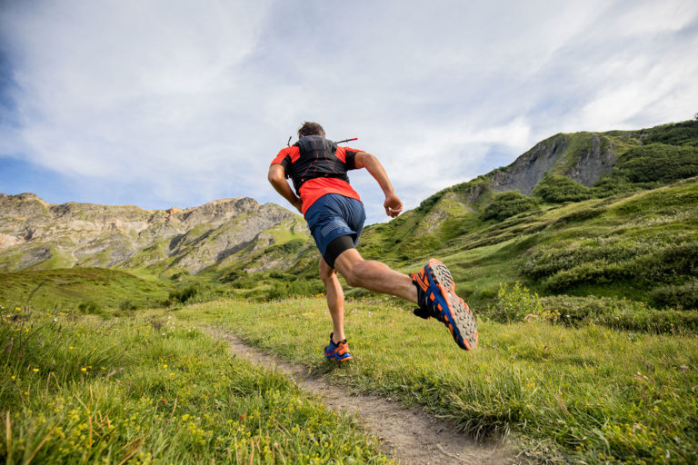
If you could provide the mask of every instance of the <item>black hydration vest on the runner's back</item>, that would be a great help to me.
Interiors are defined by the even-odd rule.
[[[301,194],[301,186],[306,181],[315,178],[337,178],[349,183],[346,163],[336,155],[336,143],[320,135],[306,135],[294,146],[298,147],[300,156],[291,163],[286,178],[293,180],[296,194]]]

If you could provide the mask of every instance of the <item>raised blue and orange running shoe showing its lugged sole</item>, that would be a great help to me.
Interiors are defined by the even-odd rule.
[[[454,278],[444,263],[429,259],[417,274],[410,273],[417,288],[418,317],[434,317],[451,331],[458,347],[472,351],[477,346],[475,318],[468,304],[455,294]]]

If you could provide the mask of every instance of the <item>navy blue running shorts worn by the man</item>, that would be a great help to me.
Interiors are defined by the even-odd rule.
[[[305,221],[325,258],[327,245],[338,237],[351,236],[354,247],[359,242],[366,221],[364,203],[338,193],[327,193],[305,212]],[[331,262],[330,266],[334,266],[334,258]]]

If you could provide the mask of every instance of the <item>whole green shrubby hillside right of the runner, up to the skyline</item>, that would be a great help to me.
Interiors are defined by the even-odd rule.
[[[477,306],[520,281],[542,295],[698,307],[698,122],[600,135],[623,150],[595,185],[558,164],[530,195],[496,193],[488,173],[367,227],[359,249],[404,271],[436,256]],[[569,134],[564,157],[583,156],[587,136]]]

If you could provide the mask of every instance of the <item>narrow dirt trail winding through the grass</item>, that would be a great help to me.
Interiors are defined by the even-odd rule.
[[[365,430],[382,442],[384,452],[404,464],[495,464],[511,463],[511,450],[489,444],[478,444],[454,426],[421,409],[409,409],[397,401],[372,395],[347,395],[341,387],[322,377],[313,377],[307,368],[280,361],[240,340],[233,334],[206,328],[211,335],[227,341],[238,357],[289,375],[305,391],[310,391],[334,409],[356,414]]]

